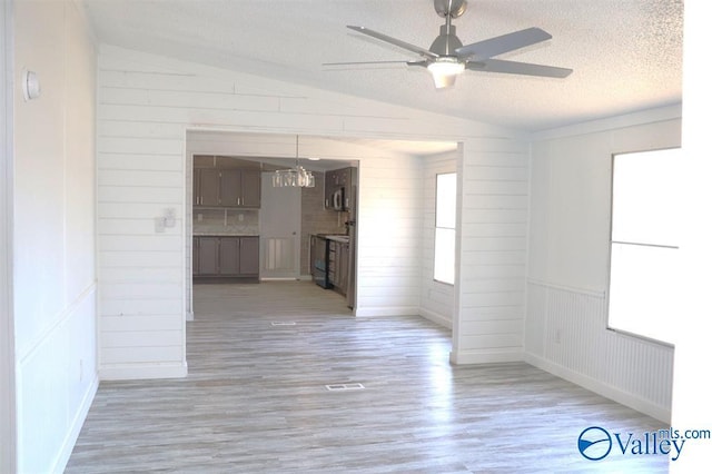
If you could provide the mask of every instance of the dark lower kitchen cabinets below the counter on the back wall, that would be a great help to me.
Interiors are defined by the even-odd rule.
[[[259,237],[194,237],[192,275],[196,277],[258,277]]]

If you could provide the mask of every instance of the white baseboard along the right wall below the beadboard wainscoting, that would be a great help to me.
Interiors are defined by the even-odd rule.
[[[666,408],[654,403],[651,403],[644,398],[641,398],[631,393],[624,392],[620,388],[604,384],[601,381],[596,381],[587,375],[580,374],[570,368],[562,367],[558,364],[554,364],[551,361],[546,361],[543,357],[531,353],[524,353],[524,362],[535,367],[546,371],[557,377],[580,385],[591,392],[594,392],[601,396],[610,398],[621,405],[629,406],[645,415],[652,416],[655,419],[660,419],[663,423],[670,424],[672,417],[671,408]]]

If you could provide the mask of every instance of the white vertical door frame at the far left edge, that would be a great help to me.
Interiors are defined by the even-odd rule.
[[[12,317],[12,1],[0,6],[0,472],[17,471],[14,324]]]

